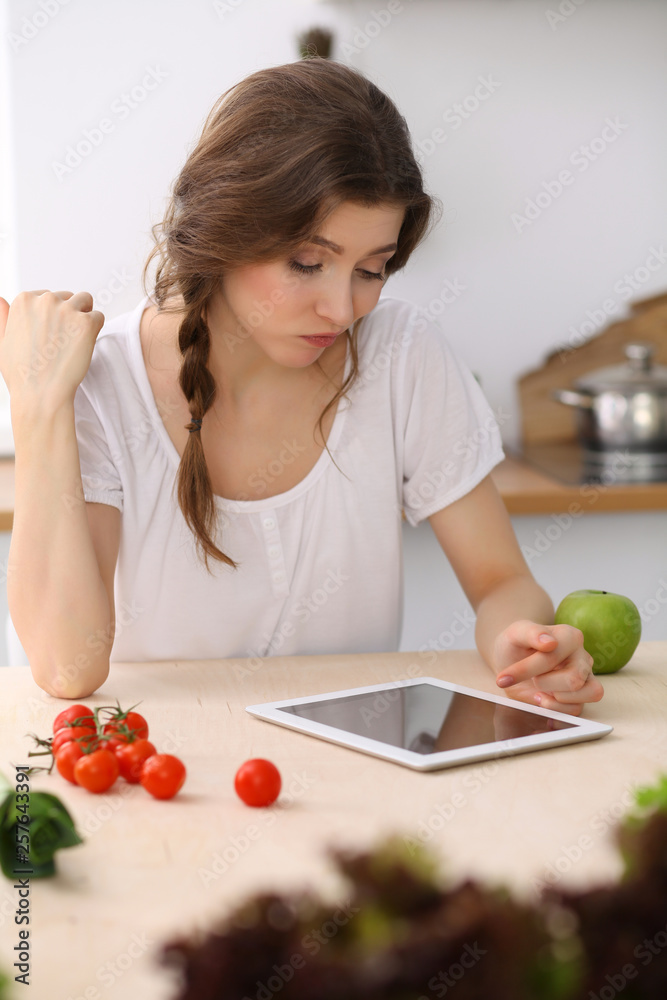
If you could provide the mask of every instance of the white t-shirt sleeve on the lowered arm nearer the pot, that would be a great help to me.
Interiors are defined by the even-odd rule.
[[[403,510],[420,521],[469,493],[505,457],[498,421],[445,334],[416,309],[405,338]]]

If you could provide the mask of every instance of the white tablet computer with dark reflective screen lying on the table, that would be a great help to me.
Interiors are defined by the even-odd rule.
[[[246,711],[418,771],[595,740],[612,731],[436,677],[287,698]]]

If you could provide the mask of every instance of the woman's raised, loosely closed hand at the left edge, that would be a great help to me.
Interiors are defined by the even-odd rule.
[[[0,297],[0,372],[12,409],[73,403],[90,367],[104,314],[90,292],[20,292]]]

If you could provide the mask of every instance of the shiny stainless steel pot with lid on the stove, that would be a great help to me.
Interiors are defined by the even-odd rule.
[[[653,344],[627,344],[627,364],[598,368],[572,389],[552,392],[554,399],[576,408],[584,448],[667,452],[667,367],[653,364],[654,353]]]

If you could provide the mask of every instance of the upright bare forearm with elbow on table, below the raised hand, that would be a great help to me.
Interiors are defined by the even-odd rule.
[[[113,639],[83,499],[74,410],[13,409],[12,424],[9,609],[39,686],[56,697],[85,697],[106,679]]]

